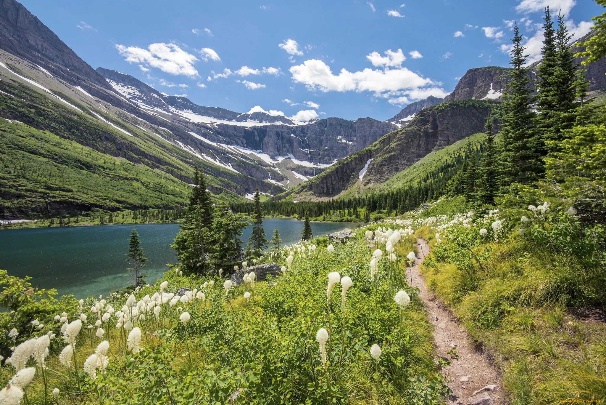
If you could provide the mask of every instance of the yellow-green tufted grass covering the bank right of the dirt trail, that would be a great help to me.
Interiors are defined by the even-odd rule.
[[[574,308],[601,306],[599,272],[517,232],[474,248],[482,267],[455,265],[465,252],[448,240],[435,245],[433,233],[418,232],[433,246],[422,273],[496,359],[511,404],[606,400],[606,324],[574,315]]]

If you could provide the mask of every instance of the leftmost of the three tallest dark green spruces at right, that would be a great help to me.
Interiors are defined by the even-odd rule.
[[[535,127],[535,113],[531,109],[530,79],[524,67],[527,55],[522,46],[524,36],[518,24],[514,25],[511,61],[511,80],[505,87],[502,105],[502,153],[499,159],[501,187],[511,183],[531,183],[544,172],[541,160],[542,140]]]

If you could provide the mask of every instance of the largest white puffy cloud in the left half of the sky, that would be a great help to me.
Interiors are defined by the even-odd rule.
[[[116,49],[128,63],[142,63],[171,75],[198,76],[198,70],[193,66],[198,58],[175,44],[156,43],[147,49],[116,44]]]

